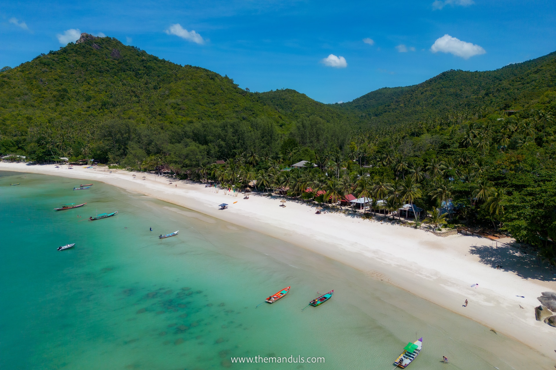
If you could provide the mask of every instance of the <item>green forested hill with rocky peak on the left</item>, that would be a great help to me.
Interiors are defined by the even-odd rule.
[[[333,127],[345,117],[294,90],[250,93],[227,76],[88,34],[0,73],[0,154],[36,160],[172,154],[188,167],[275,152],[300,119]]]

